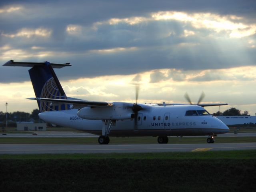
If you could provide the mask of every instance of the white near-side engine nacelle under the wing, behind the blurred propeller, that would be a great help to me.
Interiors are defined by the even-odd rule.
[[[114,102],[113,106],[81,108],[77,115],[90,120],[121,120],[130,119],[133,113],[132,109],[122,102]]]

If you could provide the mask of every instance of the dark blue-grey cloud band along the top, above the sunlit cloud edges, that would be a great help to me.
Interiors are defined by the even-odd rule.
[[[166,1],[153,0],[126,1],[126,0],[87,0],[87,1],[34,1],[19,0],[1,1],[0,8],[6,9],[12,5],[23,6],[26,10],[18,13],[2,14],[0,17],[1,30],[15,31],[24,27],[49,26],[51,28],[66,26],[67,24],[90,25],[94,22],[110,18],[127,18],[131,16],[148,16],[158,11],[185,11],[185,12],[212,12],[217,14],[235,14],[248,20],[255,20],[256,2],[253,0],[229,0],[224,3],[216,1]],[[135,6],[136,5],[136,6]]]

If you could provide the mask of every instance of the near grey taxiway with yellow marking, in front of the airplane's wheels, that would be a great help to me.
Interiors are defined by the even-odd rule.
[[[197,152],[256,149],[253,143],[214,144],[0,144],[0,154]]]

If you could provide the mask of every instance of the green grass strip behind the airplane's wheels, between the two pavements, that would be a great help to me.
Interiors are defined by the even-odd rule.
[[[169,137],[170,144],[206,143],[207,137]],[[215,142],[256,142],[256,137],[216,137]],[[110,144],[156,144],[156,137],[110,137]],[[98,138],[15,138],[1,137],[0,144],[98,144]]]

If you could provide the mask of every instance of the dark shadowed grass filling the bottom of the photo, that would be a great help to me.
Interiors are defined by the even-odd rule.
[[[0,159],[4,191],[254,191],[250,159]]]

